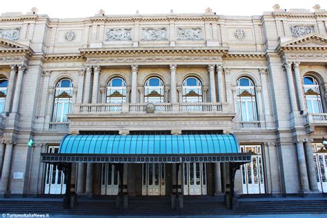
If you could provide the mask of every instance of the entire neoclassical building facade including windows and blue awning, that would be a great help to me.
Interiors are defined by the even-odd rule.
[[[326,28],[319,6],[276,5],[250,17],[210,8],[100,10],[81,19],[54,19],[35,8],[1,14],[1,195],[66,192],[63,172],[41,153],[72,154],[79,146],[108,155],[123,145],[124,155],[132,155],[135,140],[144,154],[163,139],[166,155],[180,153],[180,141],[186,154],[218,147],[215,153],[227,154],[226,140],[235,139],[237,153],[252,155],[236,172],[239,194],[327,192]],[[210,144],[214,137],[224,144]],[[80,161],[72,164],[70,190],[117,195],[122,184],[126,195],[170,195],[176,188],[183,195],[224,195],[230,166],[140,161],[121,170],[110,161]]]

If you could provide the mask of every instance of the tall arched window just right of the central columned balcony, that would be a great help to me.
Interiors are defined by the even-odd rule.
[[[252,80],[241,77],[237,80],[237,112],[239,121],[257,121],[257,101]]]

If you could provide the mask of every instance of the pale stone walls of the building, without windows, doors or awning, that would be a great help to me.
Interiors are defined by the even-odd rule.
[[[36,10],[2,14],[0,79],[8,79],[8,91],[0,117],[1,193],[43,194],[41,152],[59,145],[68,133],[109,130],[124,135],[132,130],[233,133],[241,145],[261,146],[264,192],[317,192],[310,146],[327,136],[327,12],[274,8],[252,17],[212,10],[130,16],[101,12],[83,19],[54,19]],[[318,119],[306,108],[305,75],[319,81],[324,112]],[[126,102],[112,112],[106,90],[117,76],[126,81]],[[154,76],[164,81],[164,102],[144,109],[144,84]],[[203,103],[183,103],[183,81],[190,76],[201,81]],[[239,119],[241,77],[255,86],[255,121]],[[53,120],[55,88],[63,78],[73,83],[66,123]],[[195,106],[207,109],[188,111]],[[28,139],[33,146],[27,146]],[[86,192],[99,195],[99,181],[88,185],[85,179],[90,166],[81,168],[77,180],[86,180]],[[216,178],[222,180],[216,186],[226,191],[226,170],[213,168],[210,175],[219,172]],[[236,177],[237,192],[244,192],[240,171]]]

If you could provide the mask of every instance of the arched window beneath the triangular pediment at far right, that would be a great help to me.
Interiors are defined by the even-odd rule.
[[[319,83],[317,79],[306,76],[303,78],[304,95],[306,96],[306,106],[310,113],[324,112],[321,104]]]

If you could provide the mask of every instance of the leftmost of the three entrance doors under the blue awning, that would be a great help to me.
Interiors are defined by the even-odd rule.
[[[101,195],[118,195],[119,172],[113,164],[101,164]]]

